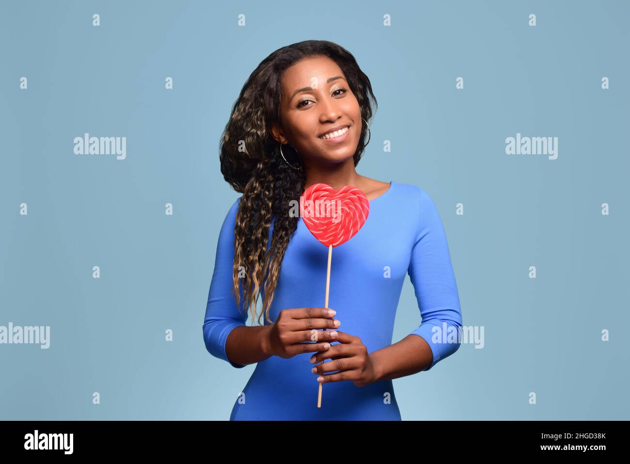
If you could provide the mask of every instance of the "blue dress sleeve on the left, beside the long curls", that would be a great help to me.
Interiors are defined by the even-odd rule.
[[[247,322],[247,314],[244,311],[239,312],[236,298],[232,294],[234,224],[236,223],[236,211],[240,199],[239,197],[234,202],[221,226],[214,261],[214,273],[210,282],[208,303],[203,320],[203,341],[206,349],[212,356],[224,359],[235,368],[244,368],[245,366],[234,364],[228,359],[226,354],[227,335],[233,328],[246,325]]]

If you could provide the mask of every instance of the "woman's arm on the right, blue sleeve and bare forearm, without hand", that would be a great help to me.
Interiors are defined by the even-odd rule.
[[[449,245],[435,203],[423,190],[408,273],[422,322],[398,343],[370,353],[377,381],[428,371],[460,344],[462,314]]]

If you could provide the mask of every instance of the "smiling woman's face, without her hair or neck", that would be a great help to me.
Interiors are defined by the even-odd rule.
[[[284,72],[280,120],[271,129],[273,137],[289,142],[305,165],[343,163],[357,150],[362,126],[358,101],[328,57],[303,59]],[[340,126],[340,132],[322,138]]]

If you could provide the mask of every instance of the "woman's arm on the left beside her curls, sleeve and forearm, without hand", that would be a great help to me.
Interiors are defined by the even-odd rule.
[[[203,320],[203,341],[206,349],[212,356],[229,362],[234,368],[244,368],[247,364],[270,356],[266,354],[268,352],[266,334],[269,326],[247,326],[247,313],[243,310],[242,304],[239,311],[236,298],[232,294],[234,224],[239,200],[240,198],[227,212],[221,226]],[[242,294],[241,291],[241,296]],[[242,301],[241,298],[241,303]]]

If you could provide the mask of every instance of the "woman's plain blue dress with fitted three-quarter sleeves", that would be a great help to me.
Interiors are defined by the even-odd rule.
[[[239,313],[231,293],[239,200],[227,213],[219,234],[203,322],[207,350],[234,368],[244,366],[227,357],[227,335],[234,327],[246,325],[246,315]],[[273,225],[271,229],[270,236]],[[299,219],[280,267],[270,318],[275,321],[285,308],[324,307],[327,266],[328,248]],[[328,306],[337,311],[339,330],[360,337],[368,352],[391,345],[407,273],[421,315],[420,327],[410,333],[430,345],[429,370],[459,348],[456,335],[447,337],[447,332],[457,334],[462,325],[459,294],[433,200],[415,185],[391,182],[385,194],[370,200],[369,215],[357,235],[333,247]],[[391,380],[362,387],[352,381],[324,383],[318,408],[319,383],[311,372],[312,354],[289,359],[271,356],[258,362],[234,403],[230,420],[401,420]]]

